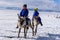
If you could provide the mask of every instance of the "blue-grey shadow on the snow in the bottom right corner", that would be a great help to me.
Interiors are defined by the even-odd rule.
[[[60,40],[60,34],[47,34],[48,37],[40,37],[38,36],[38,38],[36,38],[36,40]],[[58,37],[58,39],[57,39]]]

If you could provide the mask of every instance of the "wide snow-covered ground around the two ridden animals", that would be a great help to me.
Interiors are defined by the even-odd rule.
[[[32,30],[29,28],[27,39],[24,38],[23,28],[20,38],[17,38],[18,13],[17,10],[0,10],[0,40],[60,40],[60,13],[40,12],[43,26],[38,25],[35,36],[32,36]],[[30,11],[29,18],[32,19],[32,15],[33,11]]]

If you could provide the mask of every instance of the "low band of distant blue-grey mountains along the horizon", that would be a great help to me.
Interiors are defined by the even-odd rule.
[[[19,8],[19,7],[0,7],[0,10],[21,10],[22,8]],[[28,8],[28,10],[30,11],[34,11],[34,8]],[[39,9],[38,11],[43,11],[43,12],[60,12],[60,11],[57,11],[57,10],[51,10],[51,9]]]

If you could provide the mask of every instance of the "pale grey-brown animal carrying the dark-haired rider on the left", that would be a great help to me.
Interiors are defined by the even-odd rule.
[[[18,15],[18,18],[19,18],[18,24],[17,24],[17,28],[19,28],[18,38],[20,37],[19,35],[21,32],[21,28],[24,28],[24,38],[26,38],[26,36],[27,36],[27,31],[28,31],[29,27],[31,27],[31,29],[32,29],[32,36],[34,36],[34,30],[33,30],[33,27],[31,25],[31,20],[29,19],[28,25],[26,25],[26,18],[25,17],[20,17]]]

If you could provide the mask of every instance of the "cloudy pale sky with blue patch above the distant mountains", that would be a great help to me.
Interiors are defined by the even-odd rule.
[[[28,8],[60,10],[60,0],[0,0],[0,6],[13,6],[22,8],[27,4]]]

